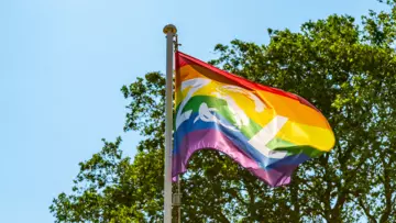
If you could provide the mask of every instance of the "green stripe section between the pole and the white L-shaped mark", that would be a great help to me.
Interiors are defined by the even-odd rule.
[[[223,116],[228,122],[230,122],[232,125],[235,126],[235,119],[232,115],[227,101],[223,99],[219,99],[216,97],[210,96],[194,96],[185,105],[183,109],[183,112],[193,110],[193,112],[198,112],[200,104],[205,102],[208,108],[215,108],[217,109],[217,113]],[[176,108],[176,113],[179,110],[179,105]],[[245,135],[248,138],[251,138],[253,135],[255,135],[260,130],[262,129],[261,125],[255,123],[252,119],[249,119],[249,124],[243,125],[241,127],[241,132],[243,135]]]

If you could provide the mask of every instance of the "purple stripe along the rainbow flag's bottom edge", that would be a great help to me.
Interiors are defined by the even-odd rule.
[[[177,154],[173,154],[173,179],[187,170],[187,164],[191,155],[199,149],[220,150],[250,170],[270,186],[277,187],[290,182],[290,175],[297,165],[280,166],[265,170],[258,164],[240,150],[226,135],[217,130],[200,130],[188,133],[183,138]]]

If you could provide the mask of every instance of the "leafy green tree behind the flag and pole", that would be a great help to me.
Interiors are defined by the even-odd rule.
[[[227,156],[194,155],[183,176],[185,222],[396,222],[396,59],[393,1],[359,26],[348,15],[309,21],[271,42],[217,45],[211,63],[297,93],[329,119],[337,145],[302,164],[288,187],[270,188]],[[58,222],[161,222],[165,79],[150,73],[121,90],[124,131],[145,140],[133,161],[121,140],[80,164],[74,192],[51,211]]]

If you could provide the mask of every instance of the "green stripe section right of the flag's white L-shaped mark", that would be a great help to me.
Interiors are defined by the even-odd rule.
[[[270,143],[266,146],[273,150],[286,150],[288,156],[304,153],[307,156],[314,158],[324,153],[314,148],[312,146],[295,145],[290,142],[280,140],[278,137],[275,137],[272,141],[270,141]]]

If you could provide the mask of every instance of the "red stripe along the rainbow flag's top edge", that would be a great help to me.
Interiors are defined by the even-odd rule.
[[[312,109],[315,109],[316,111],[320,112],[316,107],[314,107],[311,103],[309,103],[306,99],[299,97],[299,96],[296,96],[294,93],[290,93],[290,92],[286,92],[284,90],[280,90],[280,89],[277,89],[277,88],[273,88],[273,87],[268,87],[268,86],[263,86],[263,85],[258,85],[256,82],[253,82],[253,81],[250,81],[245,78],[242,78],[242,77],[239,77],[237,75],[233,75],[233,74],[230,74],[230,73],[227,73],[224,70],[221,70],[215,66],[211,66],[207,63],[204,63],[197,58],[194,58],[187,54],[184,54],[182,52],[176,52],[176,70],[180,69],[182,67],[186,66],[186,65],[198,65],[198,66],[201,66],[201,67],[205,67],[218,75],[221,75],[230,80],[233,80],[235,82],[238,82],[239,85],[245,87],[245,88],[249,88],[249,89],[252,89],[252,90],[263,90],[263,91],[267,91],[267,92],[271,92],[271,93],[276,93],[278,96],[283,96],[283,97],[287,97],[287,98],[290,98],[290,99],[294,99],[294,100],[297,100],[299,101],[300,103],[307,105],[307,107],[310,107]]]

